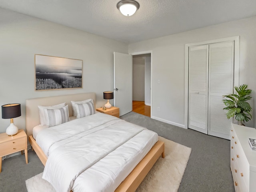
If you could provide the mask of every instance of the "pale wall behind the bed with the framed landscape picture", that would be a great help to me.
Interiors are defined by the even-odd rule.
[[[21,104],[14,124],[23,129],[28,98],[96,92],[100,107],[106,103],[103,91],[113,89],[114,51],[128,53],[128,45],[0,8],[0,104]],[[83,88],[35,91],[35,54],[83,60]],[[0,118],[0,132],[9,124]]]

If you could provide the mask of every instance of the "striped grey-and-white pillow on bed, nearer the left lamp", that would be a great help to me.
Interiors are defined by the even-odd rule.
[[[52,127],[69,121],[68,105],[59,109],[44,109],[46,125]]]

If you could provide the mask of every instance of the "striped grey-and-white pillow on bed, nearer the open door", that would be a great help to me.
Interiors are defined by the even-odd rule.
[[[77,112],[76,118],[82,118],[95,114],[94,104],[92,100],[87,103],[74,104],[74,106],[76,107]]]

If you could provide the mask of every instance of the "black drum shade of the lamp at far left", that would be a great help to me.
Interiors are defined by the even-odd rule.
[[[2,105],[2,118],[11,119],[21,116],[20,104]]]

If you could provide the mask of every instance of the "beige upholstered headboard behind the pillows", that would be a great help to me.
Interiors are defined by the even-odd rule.
[[[52,97],[41,97],[26,100],[26,132],[27,135],[32,135],[34,126],[40,124],[38,105],[52,106],[66,102],[68,105],[69,116],[73,116],[73,110],[70,101],[82,101],[86,99],[93,99],[94,107],[96,104],[95,93],[80,93],[71,95],[61,95]]]

